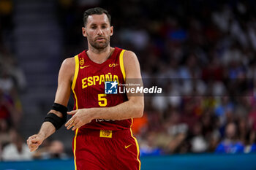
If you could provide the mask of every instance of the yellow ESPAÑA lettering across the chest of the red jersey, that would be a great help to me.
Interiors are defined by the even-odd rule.
[[[82,79],[82,88],[87,88],[88,86],[91,85],[101,85],[104,84],[104,82],[118,82],[118,76],[117,75],[112,75],[111,73],[108,74],[100,74],[99,76],[90,76],[90,77],[85,77]]]

